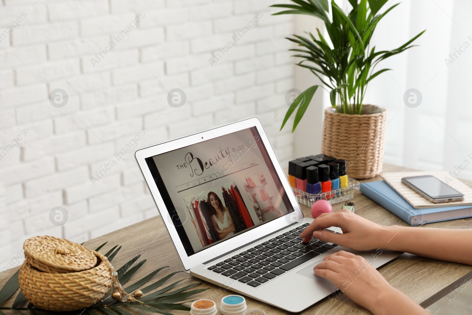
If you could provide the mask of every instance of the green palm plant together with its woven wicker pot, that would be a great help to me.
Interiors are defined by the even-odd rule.
[[[387,113],[380,106],[363,104],[367,85],[390,70],[374,71],[380,61],[413,47],[411,43],[425,31],[394,50],[376,51],[375,46],[369,47],[375,27],[398,4],[379,13],[388,0],[349,0],[352,9],[346,15],[334,0],[291,1],[294,4],[272,5],[286,9],[273,15],[318,17],[329,40],[318,29],[317,36],[287,38],[299,46],[291,49],[297,52],[294,57],[302,58],[297,65],[312,71],[323,85],[313,85],[296,97],[280,129],[296,109],[295,131],[318,87],[328,89],[332,107],[324,111],[321,152],[348,161],[347,172],[355,179],[374,177],[382,171]]]

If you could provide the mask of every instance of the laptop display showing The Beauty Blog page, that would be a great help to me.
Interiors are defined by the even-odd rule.
[[[256,127],[146,163],[188,256],[294,211]]]

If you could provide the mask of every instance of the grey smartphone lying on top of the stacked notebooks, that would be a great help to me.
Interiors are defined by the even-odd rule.
[[[404,177],[402,183],[435,204],[464,200],[463,194],[431,175]]]

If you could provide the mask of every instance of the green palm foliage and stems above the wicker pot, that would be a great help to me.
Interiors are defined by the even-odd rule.
[[[276,4],[271,7],[283,8],[279,14],[304,14],[319,17],[325,24],[329,38],[317,31],[317,37],[310,34],[311,39],[294,35],[287,39],[299,47],[291,49],[299,53],[293,57],[299,67],[309,69],[320,81],[329,88],[331,106],[345,114],[362,113],[362,102],[367,85],[381,73],[382,69],[374,72],[376,65],[388,57],[412,48],[413,41],[423,34],[413,37],[410,41],[394,50],[374,52],[375,47],[367,50],[372,34],[379,21],[398,4],[394,4],[379,13],[388,0],[348,0],[352,6],[349,12],[339,8],[334,0],[290,0],[293,4]],[[331,6],[331,8],[329,8]],[[330,15],[330,16],[329,16]],[[315,90],[314,87],[312,87]],[[292,132],[302,119],[313,90],[306,90],[303,96],[297,97],[287,109],[280,130],[288,119],[295,114]],[[316,91],[316,90],[315,90]]]

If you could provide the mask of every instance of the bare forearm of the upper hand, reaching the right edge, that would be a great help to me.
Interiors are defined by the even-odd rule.
[[[472,265],[472,230],[385,227],[380,248]]]

